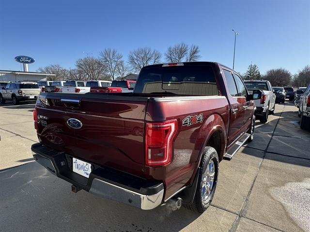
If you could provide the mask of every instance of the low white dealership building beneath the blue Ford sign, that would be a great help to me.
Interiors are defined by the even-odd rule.
[[[46,81],[55,74],[0,70],[0,81]]]

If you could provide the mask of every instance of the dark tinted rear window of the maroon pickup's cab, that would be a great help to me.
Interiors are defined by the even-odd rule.
[[[215,74],[213,68],[208,65],[142,69],[134,92],[189,96],[218,95]]]

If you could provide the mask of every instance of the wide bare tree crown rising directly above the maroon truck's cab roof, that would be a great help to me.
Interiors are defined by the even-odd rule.
[[[197,61],[201,57],[199,52],[197,45],[193,44],[189,48],[186,43],[178,43],[168,47],[165,58],[168,62]]]

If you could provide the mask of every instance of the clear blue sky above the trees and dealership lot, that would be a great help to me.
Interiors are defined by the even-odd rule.
[[[22,70],[17,55],[35,58],[30,71],[49,64],[75,68],[78,58],[106,47],[127,59],[138,47],[164,53],[176,43],[199,45],[205,61],[252,62],[261,73],[310,64],[310,1],[0,0],[0,69]]]

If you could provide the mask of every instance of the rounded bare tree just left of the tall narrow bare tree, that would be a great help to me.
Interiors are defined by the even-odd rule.
[[[76,61],[76,66],[78,71],[85,75],[86,80],[98,80],[103,78],[106,79],[106,76],[104,75],[105,65],[98,58],[79,58]]]

